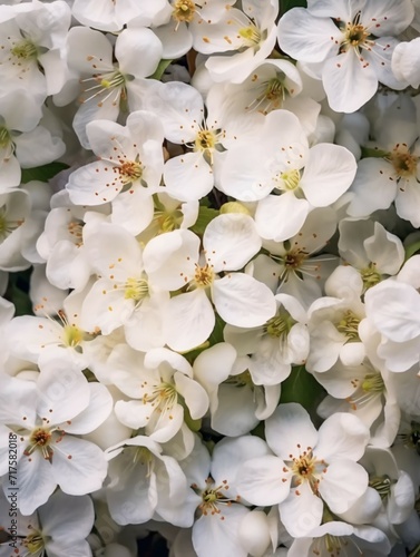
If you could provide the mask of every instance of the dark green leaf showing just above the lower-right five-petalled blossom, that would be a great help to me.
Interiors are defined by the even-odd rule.
[[[324,388],[309,373],[304,365],[292,368],[292,373],[282,383],[280,402],[299,402],[310,413],[318,424],[321,420],[316,414],[319,403],[325,397]]]

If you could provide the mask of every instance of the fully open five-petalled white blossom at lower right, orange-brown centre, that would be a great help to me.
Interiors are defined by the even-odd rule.
[[[335,413],[316,431],[300,404],[280,404],[265,422],[265,437],[274,456],[246,462],[237,490],[254,505],[280,504],[291,536],[320,526],[323,501],[332,512],[344,512],[368,488],[368,473],[356,461],[369,431],[358,418]]]

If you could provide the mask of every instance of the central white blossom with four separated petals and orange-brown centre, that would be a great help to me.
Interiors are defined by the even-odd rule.
[[[150,281],[172,292],[183,289],[165,309],[164,336],[169,348],[185,351],[205,342],[215,324],[213,304],[233,325],[257,326],[274,315],[271,290],[240,272],[260,247],[252,217],[240,213],[218,215],[207,225],[203,252],[198,236],[185,229],[147,244],[144,262]]]

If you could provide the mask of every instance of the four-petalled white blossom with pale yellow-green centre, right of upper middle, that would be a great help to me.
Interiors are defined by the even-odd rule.
[[[297,234],[312,207],[334,203],[350,187],[355,172],[348,149],[331,144],[310,148],[297,117],[274,110],[265,117],[261,137],[227,152],[221,184],[240,201],[260,201],[258,233],[282,242]]]

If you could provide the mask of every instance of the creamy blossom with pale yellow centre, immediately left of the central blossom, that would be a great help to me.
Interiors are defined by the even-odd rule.
[[[97,280],[82,301],[82,328],[109,334],[124,325],[136,349],[163,346],[160,310],[168,293],[145,272],[144,251],[136,238],[121,226],[99,223],[86,229],[84,248]]]

